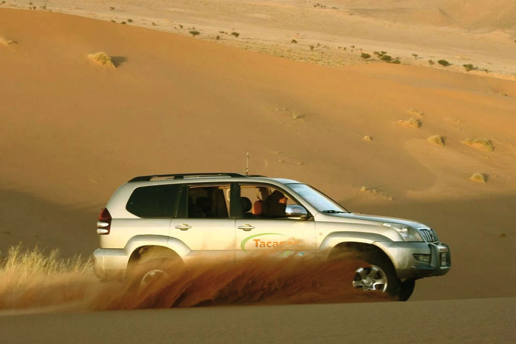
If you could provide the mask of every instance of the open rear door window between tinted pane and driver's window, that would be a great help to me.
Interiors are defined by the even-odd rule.
[[[230,185],[188,186],[188,218],[228,218],[229,209]]]

